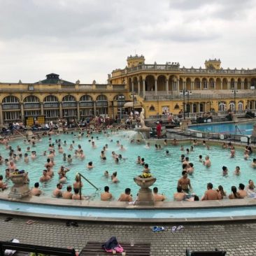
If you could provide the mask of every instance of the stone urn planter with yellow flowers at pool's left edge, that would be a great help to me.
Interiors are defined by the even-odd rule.
[[[11,187],[8,197],[21,199],[29,195],[27,172],[21,174],[10,173],[10,180],[13,182],[13,187]]]

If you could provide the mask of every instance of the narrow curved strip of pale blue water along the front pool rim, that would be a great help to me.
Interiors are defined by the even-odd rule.
[[[0,208],[23,213],[41,213],[94,218],[214,218],[256,215],[256,206],[235,208],[197,208],[180,210],[125,210],[108,208],[61,207],[40,204],[23,204],[0,200]]]

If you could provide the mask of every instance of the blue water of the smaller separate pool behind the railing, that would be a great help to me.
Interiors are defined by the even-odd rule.
[[[232,124],[211,124],[211,125],[193,125],[190,127],[192,130],[213,132],[217,134],[243,134],[252,135],[253,125],[255,122],[242,122]]]

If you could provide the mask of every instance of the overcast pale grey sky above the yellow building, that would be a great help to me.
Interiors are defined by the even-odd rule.
[[[256,67],[256,0],[0,0],[0,82],[106,83],[145,62]]]

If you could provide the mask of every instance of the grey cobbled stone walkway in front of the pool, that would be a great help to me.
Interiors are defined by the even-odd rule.
[[[154,233],[150,225],[111,225],[93,222],[78,222],[79,227],[66,227],[64,220],[36,219],[27,225],[28,218],[15,217],[4,222],[7,215],[0,215],[0,240],[19,239],[21,243],[81,250],[87,241],[106,241],[117,236],[118,241],[151,243],[152,256],[185,256],[185,248],[197,250],[227,250],[227,256],[256,255],[256,222],[229,222],[216,225],[185,225],[180,232]],[[178,223],[177,223],[178,225]]]

